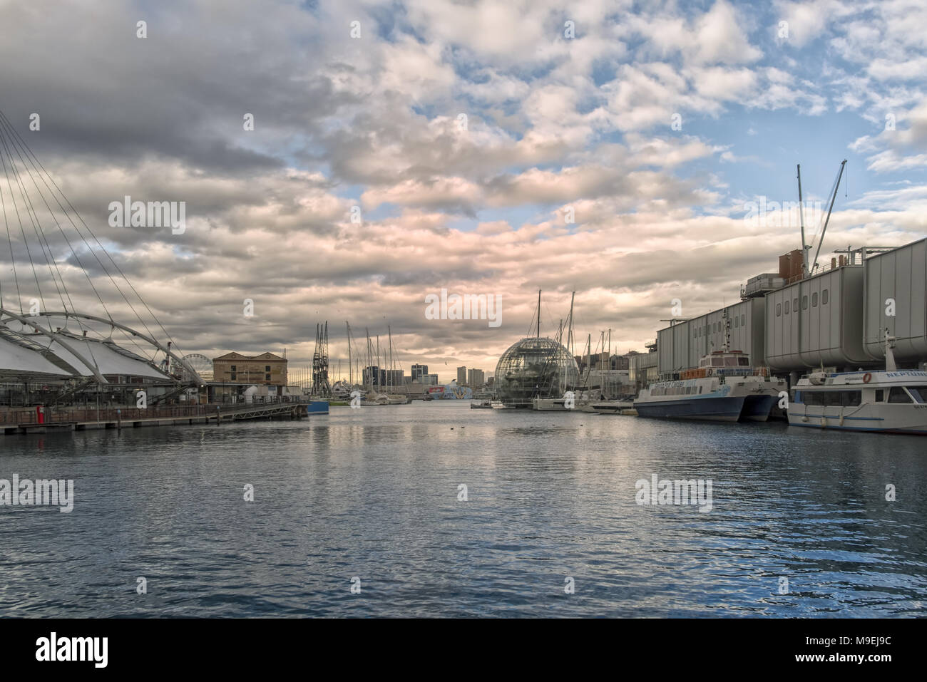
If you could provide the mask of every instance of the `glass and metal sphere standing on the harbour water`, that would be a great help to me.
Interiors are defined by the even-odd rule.
[[[561,398],[578,385],[579,368],[552,338],[528,336],[508,347],[496,365],[496,397],[529,404],[531,398]]]

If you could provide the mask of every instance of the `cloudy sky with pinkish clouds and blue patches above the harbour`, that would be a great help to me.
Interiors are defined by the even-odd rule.
[[[801,247],[771,209],[798,163],[810,235],[847,159],[820,263],[927,234],[922,2],[0,0],[0,32],[0,110],[184,353],[299,365],[327,320],[335,372],[345,321],[388,325],[450,381],[533,334],[539,289],[542,335],[575,291],[577,346],[643,350]],[[54,275],[30,284],[0,192],[19,309],[14,280]],[[124,196],[184,202],[184,230],[113,225]],[[72,305],[101,314],[93,282],[132,325],[35,217]],[[442,289],[498,324],[430,319]]]

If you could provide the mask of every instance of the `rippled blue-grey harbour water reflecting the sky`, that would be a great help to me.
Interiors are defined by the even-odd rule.
[[[449,401],[5,436],[12,474],[73,478],[75,504],[0,507],[7,616],[878,616],[927,599],[915,436]],[[710,479],[711,512],[639,505],[653,474]]]

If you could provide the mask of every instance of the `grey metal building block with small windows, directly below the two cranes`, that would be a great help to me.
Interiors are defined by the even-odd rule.
[[[862,294],[861,266],[824,272],[768,294],[767,364],[788,372],[871,366],[862,347]]]

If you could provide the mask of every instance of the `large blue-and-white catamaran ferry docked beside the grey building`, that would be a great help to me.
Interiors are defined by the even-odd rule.
[[[641,417],[765,422],[787,385],[750,365],[740,350],[717,350],[699,360],[678,381],[657,382],[641,390],[634,409]]]

